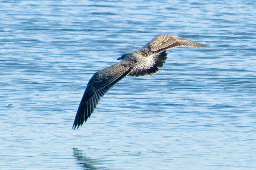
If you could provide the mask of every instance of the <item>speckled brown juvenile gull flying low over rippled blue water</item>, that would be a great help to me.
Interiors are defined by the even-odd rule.
[[[72,129],[78,129],[87,121],[101,97],[118,81],[125,76],[139,77],[157,73],[158,67],[163,67],[167,59],[166,50],[180,46],[207,47],[178,36],[160,34],[138,51],[119,57],[117,60],[121,62],[96,72],[87,84]]]

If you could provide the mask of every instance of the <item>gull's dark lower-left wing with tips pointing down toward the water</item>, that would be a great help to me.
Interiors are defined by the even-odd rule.
[[[103,97],[109,89],[124,78],[130,71],[130,67],[120,62],[104,70],[100,70],[92,76],[78,107],[73,124],[73,127],[75,127],[74,129],[76,129],[76,126],[78,129],[79,126],[82,126],[84,121],[86,122],[96,108],[101,97]]]

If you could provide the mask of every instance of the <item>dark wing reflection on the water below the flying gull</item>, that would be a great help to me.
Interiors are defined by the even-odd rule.
[[[78,150],[77,148],[73,148],[73,156],[76,159],[76,164],[78,164],[83,170],[100,170],[104,169],[102,162],[96,159],[91,159],[82,153],[83,151]],[[97,167],[98,166],[98,167]]]

